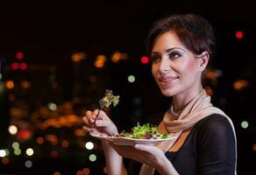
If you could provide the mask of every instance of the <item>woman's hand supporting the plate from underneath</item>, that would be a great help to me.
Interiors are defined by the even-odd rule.
[[[132,158],[133,160],[158,167],[162,163],[163,159],[166,158],[163,151],[154,145],[148,144],[135,144],[134,146],[119,146],[111,145],[117,153],[124,158]]]

